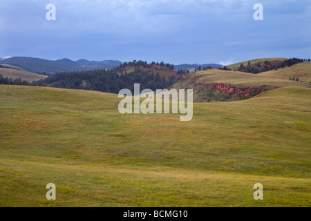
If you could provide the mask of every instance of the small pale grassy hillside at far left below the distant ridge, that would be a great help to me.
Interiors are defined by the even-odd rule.
[[[41,79],[46,79],[46,75],[39,75],[36,73],[31,73],[24,70],[17,70],[17,69],[10,69],[10,68],[0,68],[0,74],[3,75],[3,77],[12,77],[12,79],[21,78],[21,80],[25,81],[39,81]]]

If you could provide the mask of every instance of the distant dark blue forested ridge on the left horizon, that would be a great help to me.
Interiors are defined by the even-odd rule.
[[[120,65],[121,61],[72,61],[70,59],[59,59],[56,61],[50,61],[46,59],[38,59],[32,57],[11,57],[1,60],[1,63],[18,66],[23,70],[27,70],[33,73],[55,74],[61,72],[82,70],[111,69],[115,68],[115,66]]]

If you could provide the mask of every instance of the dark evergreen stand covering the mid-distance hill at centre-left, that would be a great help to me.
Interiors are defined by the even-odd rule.
[[[173,65],[161,62],[147,64],[146,61],[124,62],[112,70],[88,70],[81,72],[57,73],[43,81],[41,84],[57,88],[99,90],[107,93],[119,93],[123,88],[128,88],[133,92],[135,83],[140,83],[140,89],[149,88],[151,90],[169,88],[178,77],[176,75],[155,73],[156,68],[151,70],[153,65],[167,67],[173,70]],[[134,70],[126,73],[126,68]],[[174,72],[175,73],[175,72]]]

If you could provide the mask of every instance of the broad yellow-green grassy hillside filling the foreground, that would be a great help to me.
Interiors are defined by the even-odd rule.
[[[194,104],[190,122],[95,91],[0,94],[0,206],[311,206],[310,88]]]

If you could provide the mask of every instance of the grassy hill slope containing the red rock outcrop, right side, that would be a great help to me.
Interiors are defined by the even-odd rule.
[[[290,77],[300,79],[293,81]],[[193,88],[196,102],[225,102],[247,99],[285,86],[311,87],[310,78],[311,63],[303,62],[256,75],[232,70],[203,70],[183,75],[171,88]]]

